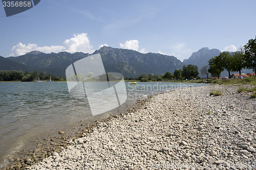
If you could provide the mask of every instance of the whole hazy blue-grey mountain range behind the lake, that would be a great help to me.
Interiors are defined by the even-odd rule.
[[[142,74],[164,75],[166,71],[173,74],[175,69],[182,69],[183,65],[194,64],[199,71],[204,65],[208,65],[210,58],[218,56],[218,49],[209,50],[208,47],[201,48],[193,53],[183,62],[174,56],[155,53],[139,53],[133,50],[112,48],[103,46],[93,54],[100,53],[106,72],[120,72],[124,77],[138,77]],[[65,77],[66,68],[75,61],[93,54],[78,53],[50,53],[32,51],[22,56],[4,58],[0,56],[0,70],[23,70]],[[205,75],[199,75],[205,77]],[[225,76],[225,75],[224,75]]]

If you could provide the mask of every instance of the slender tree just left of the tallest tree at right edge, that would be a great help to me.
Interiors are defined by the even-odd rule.
[[[241,70],[245,68],[245,55],[243,47],[240,47],[237,52],[234,52],[232,65],[232,71],[239,71],[239,75],[241,75]]]

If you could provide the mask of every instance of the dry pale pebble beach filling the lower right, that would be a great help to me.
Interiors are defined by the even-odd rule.
[[[209,95],[216,89],[223,95]],[[151,96],[23,168],[255,169],[256,99],[237,89],[202,86]]]

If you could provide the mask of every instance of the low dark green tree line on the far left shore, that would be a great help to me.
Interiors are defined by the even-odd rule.
[[[25,74],[20,70],[0,70],[0,81],[22,81],[22,82],[31,82],[37,80],[50,80],[50,77],[53,81],[66,81],[66,78],[56,77],[52,74],[45,75],[44,71],[38,75],[37,70],[34,70],[32,73],[26,71]]]

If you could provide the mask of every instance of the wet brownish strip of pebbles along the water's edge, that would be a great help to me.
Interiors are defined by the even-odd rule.
[[[65,127],[54,127],[54,130],[48,129],[47,131],[41,132],[37,135],[31,136],[28,134],[28,137],[32,137],[33,139],[30,139],[25,145],[22,144],[23,146],[20,145],[17,148],[17,151],[12,151],[10,157],[5,159],[5,162],[2,162],[4,166],[0,167],[0,169],[12,169],[12,167],[17,168],[17,165],[20,167],[20,169],[25,169],[27,165],[24,166],[24,164],[26,164],[27,159],[33,158],[28,165],[39,162],[40,160],[46,158],[49,153],[58,152],[60,151],[61,147],[66,147],[68,140],[74,140],[82,137],[84,132],[90,133],[91,127],[94,127],[97,122],[105,121],[108,118],[115,117],[123,112],[131,112],[137,108],[140,102],[141,101],[139,100],[131,100],[125,102],[118,108],[92,116],[89,120],[77,120],[77,123],[73,122],[67,127],[66,125]]]

